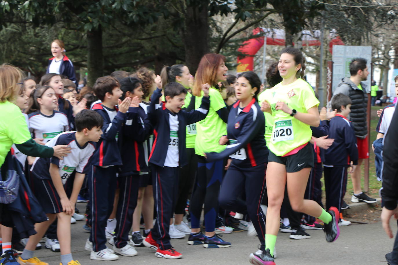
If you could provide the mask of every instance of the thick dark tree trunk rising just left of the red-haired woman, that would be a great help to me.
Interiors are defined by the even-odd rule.
[[[208,0],[203,2],[208,2]],[[195,75],[202,56],[209,52],[207,4],[202,6],[201,10],[189,6],[185,12],[185,27],[183,29],[185,65],[193,75]]]

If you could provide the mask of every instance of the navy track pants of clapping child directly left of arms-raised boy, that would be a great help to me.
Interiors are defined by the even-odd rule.
[[[129,241],[129,232],[133,224],[133,213],[137,206],[140,175],[120,176],[119,202],[117,203],[115,228],[115,246],[123,248]]]

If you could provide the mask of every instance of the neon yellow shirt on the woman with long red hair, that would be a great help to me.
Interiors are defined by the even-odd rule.
[[[217,114],[217,110],[225,108],[224,100],[220,92],[214,87],[209,89],[210,109],[204,120],[196,123],[195,153],[203,156],[205,152],[220,153],[225,149],[225,145],[219,145],[222,135],[226,135],[226,123]],[[201,97],[195,97],[195,108],[199,108],[202,103]]]

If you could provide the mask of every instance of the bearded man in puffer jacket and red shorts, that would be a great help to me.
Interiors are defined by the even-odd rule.
[[[341,79],[341,83],[336,87],[333,96],[343,93],[351,99],[351,113],[348,119],[352,122],[358,146],[358,166],[351,174],[354,193],[351,197],[352,202],[375,203],[373,199],[362,192],[361,189],[361,164],[363,159],[369,158],[369,143],[367,129],[367,103],[366,81],[369,72],[364,58],[355,58],[349,65],[350,77]]]

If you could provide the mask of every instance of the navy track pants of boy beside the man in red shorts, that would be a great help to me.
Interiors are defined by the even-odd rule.
[[[347,167],[324,167],[326,209],[334,206],[341,213],[341,201],[347,189]]]

